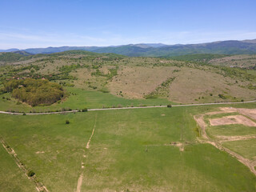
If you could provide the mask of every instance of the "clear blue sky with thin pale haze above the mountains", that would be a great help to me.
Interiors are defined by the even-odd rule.
[[[256,0],[0,0],[0,49],[256,38]]]

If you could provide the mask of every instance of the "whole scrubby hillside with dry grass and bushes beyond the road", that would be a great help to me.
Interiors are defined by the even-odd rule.
[[[13,77],[47,78],[78,90],[98,90],[126,99],[166,99],[178,103],[254,100],[255,71],[214,64],[226,58],[217,56],[206,54],[208,60],[201,63],[194,62],[193,55],[192,62],[183,62],[70,50],[22,56],[27,60],[2,66],[0,77],[2,82]]]

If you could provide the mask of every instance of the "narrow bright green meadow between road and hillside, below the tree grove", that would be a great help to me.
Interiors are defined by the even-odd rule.
[[[118,98],[112,94],[102,93],[95,90],[81,90],[74,87],[67,87],[70,96],[61,103],[55,103],[51,106],[35,106],[31,107],[26,103],[17,105],[18,100],[11,98],[10,94],[2,94],[0,98],[0,110],[15,110],[21,112],[43,112],[49,110],[62,110],[62,108],[70,108],[72,110],[103,107],[120,107],[120,106],[158,106],[173,103],[164,98],[156,99],[126,99]],[[6,100],[6,98],[11,98]]]

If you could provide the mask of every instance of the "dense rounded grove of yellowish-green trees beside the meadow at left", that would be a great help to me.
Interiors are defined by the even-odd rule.
[[[59,84],[33,78],[12,79],[4,83],[4,90],[12,92],[14,98],[31,106],[50,105],[64,96],[64,90]]]

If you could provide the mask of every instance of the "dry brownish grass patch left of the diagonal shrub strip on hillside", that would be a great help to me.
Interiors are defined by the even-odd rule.
[[[166,67],[143,67],[143,66],[122,66],[118,75],[109,82],[108,88],[111,94],[118,94],[122,91],[125,98],[143,98],[150,94],[167,78],[174,77],[178,70],[176,66]]]

